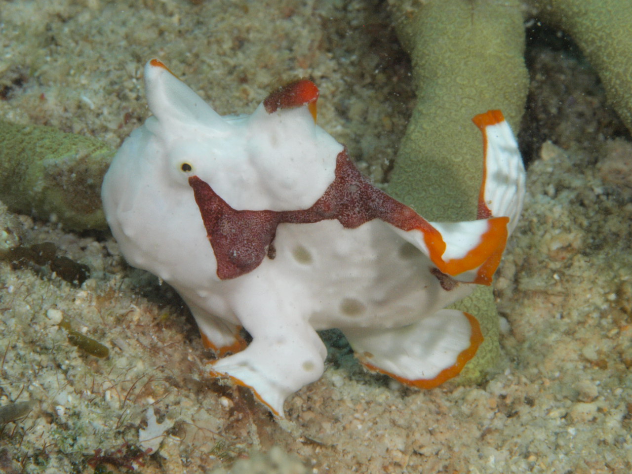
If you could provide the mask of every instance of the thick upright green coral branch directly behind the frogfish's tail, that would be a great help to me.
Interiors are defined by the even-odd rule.
[[[476,114],[501,109],[517,130],[528,90],[518,0],[391,0],[413,62],[417,102],[390,176],[389,193],[430,220],[476,218],[482,179]],[[491,287],[454,307],[477,317],[485,340],[459,375],[478,382],[499,366],[499,317]]]

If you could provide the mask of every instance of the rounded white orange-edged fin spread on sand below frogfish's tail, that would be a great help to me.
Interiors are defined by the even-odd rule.
[[[423,389],[461,372],[483,341],[477,320],[458,310],[439,310],[404,327],[343,332],[369,370]]]

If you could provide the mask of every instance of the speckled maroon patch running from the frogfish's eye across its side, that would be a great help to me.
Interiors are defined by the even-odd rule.
[[[382,219],[404,231],[437,233],[410,207],[369,183],[349,161],[346,150],[337,156],[335,176],[312,207],[285,211],[233,209],[202,179],[191,176],[189,185],[215,253],[217,276],[222,280],[236,278],[257,268],[267,253],[274,254],[270,245],[277,226],[283,222],[311,224],[337,219],[345,228],[355,229],[373,219]]]

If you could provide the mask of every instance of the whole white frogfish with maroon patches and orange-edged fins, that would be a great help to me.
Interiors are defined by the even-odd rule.
[[[103,206],[126,260],[190,308],[219,356],[210,374],[283,416],[284,400],[323,374],[317,331],[333,327],[367,368],[406,384],[458,374],[482,335],[472,315],[444,308],[491,283],[525,193],[500,111],[473,119],[485,164],[478,219],[428,222],[315,124],[308,80],[240,116],[217,114],[157,59],[145,87],[154,116],[114,157]]]

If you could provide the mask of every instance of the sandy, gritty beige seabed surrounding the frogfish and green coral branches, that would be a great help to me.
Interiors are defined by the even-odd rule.
[[[4,1],[0,51],[0,117],[112,147],[148,115],[149,58],[222,114],[252,111],[272,87],[308,76],[319,124],[376,182],[414,100],[410,64],[375,1]],[[91,272],[77,287],[46,267],[0,262],[0,405],[33,401],[0,428],[0,470],[631,471],[632,142],[588,66],[530,54],[523,134],[539,138],[495,282],[507,355],[498,374],[407,389],[364,372],[329,331],[324,377],[289,398],[279,422],[205,373],[212,354],[186,308],[128,267],[111,237],[0,207],[3,248],[52,241]],[[109,357],[71,345],[62,319]]]

